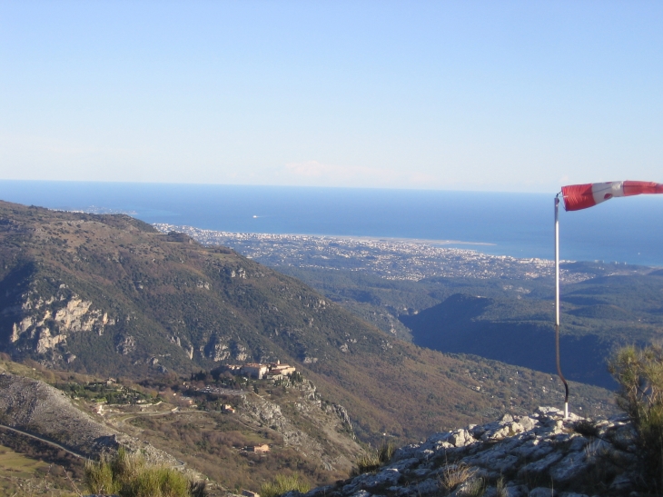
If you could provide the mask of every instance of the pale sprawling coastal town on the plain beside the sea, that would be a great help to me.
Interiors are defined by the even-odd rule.
[[[552,277],[554,272],[551,260],[490,255],[478,250],[450,248],[444,246],[445,242],[307,234],[240,234],[173,224],[154,224],[154,227],[162,233],[188,234],[200,244],[231,247],[272,267],[342,269],[411,281],[436,276],[528,280]],[[577,283],[589,279],[589,274],[562,269],[561,279],[565,283]]]

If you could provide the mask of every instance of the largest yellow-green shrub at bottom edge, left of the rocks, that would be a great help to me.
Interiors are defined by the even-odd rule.
[[[121,497],[203,497],[203,486],[182,472],[149,464],[141,454],[121,448],[113,458],[85,464],[85,484],[92,493]]]

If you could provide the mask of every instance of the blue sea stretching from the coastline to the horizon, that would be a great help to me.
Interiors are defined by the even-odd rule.
[[[452,240],[450,247],[552,259],[551,194],[0,181],[0,199],[124,212],[147,223],[240,233]],[[663,266],[663,195],[560,209],[560,257]]]

